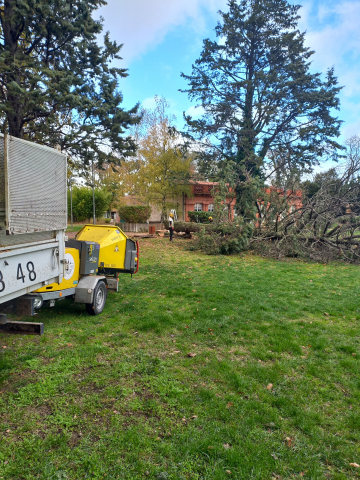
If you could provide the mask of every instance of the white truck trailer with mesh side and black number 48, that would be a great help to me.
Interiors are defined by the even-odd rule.
[[[0,135],[0,331],[43,331],[42,324],[9,322],[6,313],[33,314],[26,294],[63,279],[66,181],[66,155]]]

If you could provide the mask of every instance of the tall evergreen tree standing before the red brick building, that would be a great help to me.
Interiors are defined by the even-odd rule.
[[[297,29],[298,5],[287,0],[229,0],[219,12],[218,41],[204,40],[187,92],[205,110],[185,117],[207,146],[205,159],[235,162],[238,185],[261,176],[270,149],[284,150],[298,167],[336,159],[341,146],[340,87],[329,69],[323,81],[310,72],[314,53]],[[216,155],[215,155],[216,156]],[[238,186],[238,198],[241,187]]]

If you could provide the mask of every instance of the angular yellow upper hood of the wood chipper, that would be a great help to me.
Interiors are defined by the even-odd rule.
[[[87,240],[100,245],[99,268],[124,270],[127,236],[113,225],[85,225],[76,240]]]

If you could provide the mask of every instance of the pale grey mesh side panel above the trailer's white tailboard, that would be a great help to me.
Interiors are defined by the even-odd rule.
[[[8,137],[7,208],[10,234],[62,230],[67,225],[66,156]]]

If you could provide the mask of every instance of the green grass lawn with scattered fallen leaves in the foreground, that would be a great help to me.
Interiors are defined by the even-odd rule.
[[[359,267],[185,244],[141,240],[100,316],[0,335],[0,478],[360,477]]]

